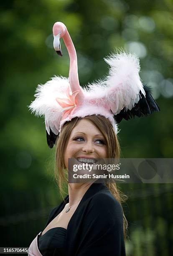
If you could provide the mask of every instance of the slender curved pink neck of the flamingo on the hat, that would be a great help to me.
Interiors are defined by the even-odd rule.
[[[78,104],[82,104],[83,93],[81,91],[81,87],[79,84],[77,55],[76,55],[76,50],[74,48],[74,44],[71,40],[71,37],[68,31],[66,31],[65,35],[63,36],[63,40],[70,57],[69,83],[70,83],[71,91],[74,92],[76,90],[80,90],[80,93],[76,95],[76,101]]]

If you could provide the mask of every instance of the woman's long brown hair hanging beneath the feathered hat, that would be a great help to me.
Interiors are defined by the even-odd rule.
[[[118,142],[117,136],[113,130],[112,124],[109,119],[102,115],[88,115],[84,119],[91,121],[104,136],[107,145],[107,158],[119,159],[120,158],[120,144]],[[55,179],[59,187],[60,195],[64,200],[64,185],[68,185],[67,179],[67,169],[64,162],[64,153],[66,150],[67,143],[71,131],[76,126],[81,118],[73,118],[70,122],[66,122],[61,129],[61,135],[56,141],[56,156],[55,156]],[[110,193],[116,198],[116,200],[122,204],[127,200],[127,196],[123,194],[117,187],[117,184],[105,182]],[[127,237],[127,219],[125,218],[123,212],[123,227],[124,227],[124,237]]]

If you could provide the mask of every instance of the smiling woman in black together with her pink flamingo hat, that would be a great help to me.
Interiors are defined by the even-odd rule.
[[[54,49],[62,56],[60,38],[69,52],[69,79],[53,77],[38,85],[29,106],[45,116],[47,143],[56,144],[56,179],[62,194],[68,159],[120,157],[117,123],[160,111],[139,77],[139,60],[132,54],[105,59],[109,76],[88,88],[79,84],[77,56],[66,26],[53,26]],[[88,160],[89,161],[89,160]],[[91,161],[91,160],[90,160]],[[52,210],[45,229],[31,243],[28,255],[124,256],[127,220],[115,183],[69,183],[69,195]]]

